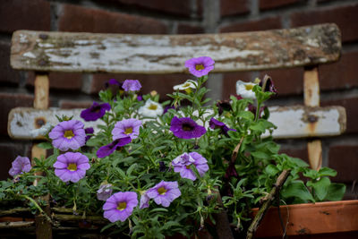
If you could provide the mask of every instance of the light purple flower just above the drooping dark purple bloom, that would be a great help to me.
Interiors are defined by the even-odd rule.
[[[113,140],[131,137],[136,139],[140,134],[141,121],[137,119],[124,119],[115,123],[115,128],[112,130]]]

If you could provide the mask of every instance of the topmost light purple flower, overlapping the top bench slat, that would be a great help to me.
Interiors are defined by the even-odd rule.
[[[209,56],[201,56],[198,58],[192,58],[185,62],[185,67],[189,68],[189,72],[196,77],[207,75],[212,69],[214,69],[214,60]]]

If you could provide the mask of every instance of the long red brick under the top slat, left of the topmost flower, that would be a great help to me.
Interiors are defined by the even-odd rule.
[[[185,74],[95,74],[93,75],[90,93],[96,93],[104,89],[105,82],[109,79],[124,81],[134,79],[141,81],[141,93],[148,94],[151,90],[157,90],[161,100],[169,99],[166,94],[173,92],[173,86],[191,79]]]

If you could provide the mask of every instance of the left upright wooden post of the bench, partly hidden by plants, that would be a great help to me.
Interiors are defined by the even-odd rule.
[[[35,100],[34,108],[37,109],[47,109],[49,102],[49,81],[47,74],[36,74],[35,78]],[[46,149],[38,147],[38,144],[34,144],[31,149],[31,158],[32,165],[35,165],[34,158],[40,159],[41,157],[46,158]],[[38,182],[35,180],[34,185],[36,186]],[[44,211],[47,215],[50,215],[49,207],[49,195],[42,198],[47,201],[47,207]],[[37,239],[52,239],[52,226],[51,223],[47,220],[46,217],[42,215],[36,215],[36,238]]]

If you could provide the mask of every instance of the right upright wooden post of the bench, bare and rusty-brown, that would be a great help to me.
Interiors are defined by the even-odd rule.
[[[307,107],[320,107],[320,82],[317,67],[305,70],[303,74],[304,105]],[[312,122],[311,124],[315,124]],[[311,168],[320,170],[322,166],[322,144],[320,140],[307,143],[308,158]]]

